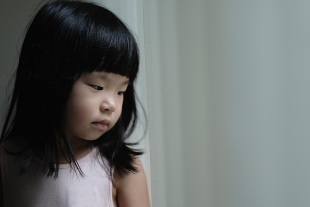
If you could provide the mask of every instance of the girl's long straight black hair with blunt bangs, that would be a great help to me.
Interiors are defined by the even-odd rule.
[[[95,3],[52,0],[34,16],[25,34],[1,141],[23,138],[32,154],[44,152],[43,172],[58,175],[58,155],[80,167],[66,136],[65,110],[73,84],[83,74],[106,71],[129,78],[122,113],[115,126],[94,141],[123,175],[136,172],[136,155],[126,139],[137,121],[134,81],[139,52],[134,36],[111,11]]]

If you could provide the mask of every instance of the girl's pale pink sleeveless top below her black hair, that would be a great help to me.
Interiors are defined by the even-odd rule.
[[[18,176],[25,157],[9,155],[1,148],[4,207],[113,207],[112,181],[107,161],[95,147],[78,160],[82,177],[69,164],[59,166],[56,179],[40,173],[42,160],[35,158]]]

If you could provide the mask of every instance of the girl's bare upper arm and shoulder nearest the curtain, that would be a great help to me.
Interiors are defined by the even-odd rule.
[[[150,207],[147,180],[142,163],[136,158],[137,173],[113,177],[115,202],[118,207]]]

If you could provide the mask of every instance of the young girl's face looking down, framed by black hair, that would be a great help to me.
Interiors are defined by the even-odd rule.
[[[95,140],[110,130],[122,112],[129,78],[108,72],[83,74],[73,85],[66,110],[70,140]]]

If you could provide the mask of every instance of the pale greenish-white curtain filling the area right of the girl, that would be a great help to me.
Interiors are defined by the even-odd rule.
[[[310,2],[155,2],[165,205],[310,206]]]

